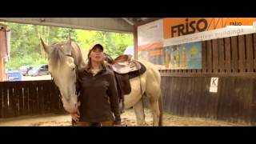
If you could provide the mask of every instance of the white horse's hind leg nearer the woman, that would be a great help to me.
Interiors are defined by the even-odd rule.
[[[137,126],[145,126],[145,114],[142,105],[142,99],[140,99],[134,106],[134,112],[136,115]]]

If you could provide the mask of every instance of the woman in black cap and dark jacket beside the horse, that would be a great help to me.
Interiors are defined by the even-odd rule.
[[[78,70],[80,114],[71,114],[76,126],[121,125],[114,72],[104,63],[103,46],[95,45],[84,70]]]

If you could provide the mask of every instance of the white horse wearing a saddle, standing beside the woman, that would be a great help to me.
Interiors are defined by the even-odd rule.
[[[62,95],[63,107],[69,113],[78,111],[78,96],[76,94],[76,70],[85,66],[88,51],[83,51],[71,42],[56,42],[42,46],[49,56],[49,70]],[[145,114],[142,104],[142,94],[150,100],[153,115],[153,126],[162,126],[161,76],[150,62],[141,61],[146,66],[146,72],[140,77],[131,78],[131,92],[124,96],[124,109],[133,107],[138,126],[145,126]],[[141,91],[142,90],[142,91]]]

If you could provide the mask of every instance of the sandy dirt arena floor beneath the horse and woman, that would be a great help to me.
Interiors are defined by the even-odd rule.
[[[152,124],[150,110],[146,112],[146,123]],[[136,118],[133,110],[126,110],[122,114],[122,124],[136,126]],[[71,126],[70,115],[45,114],[35,116],[22,116],[19,118],[0,119],[0,126]],[[243,123],[230,123],[214,121],[206,118],[188,118],[164,113],[163,126],[249,126]]]

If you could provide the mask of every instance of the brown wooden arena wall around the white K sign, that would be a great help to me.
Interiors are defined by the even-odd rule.
[[[173,114],[256,123],[256,34],[202,42],[202,70],[160,70],[163,108]],[[210,93],[210,78],[218,92]]]

